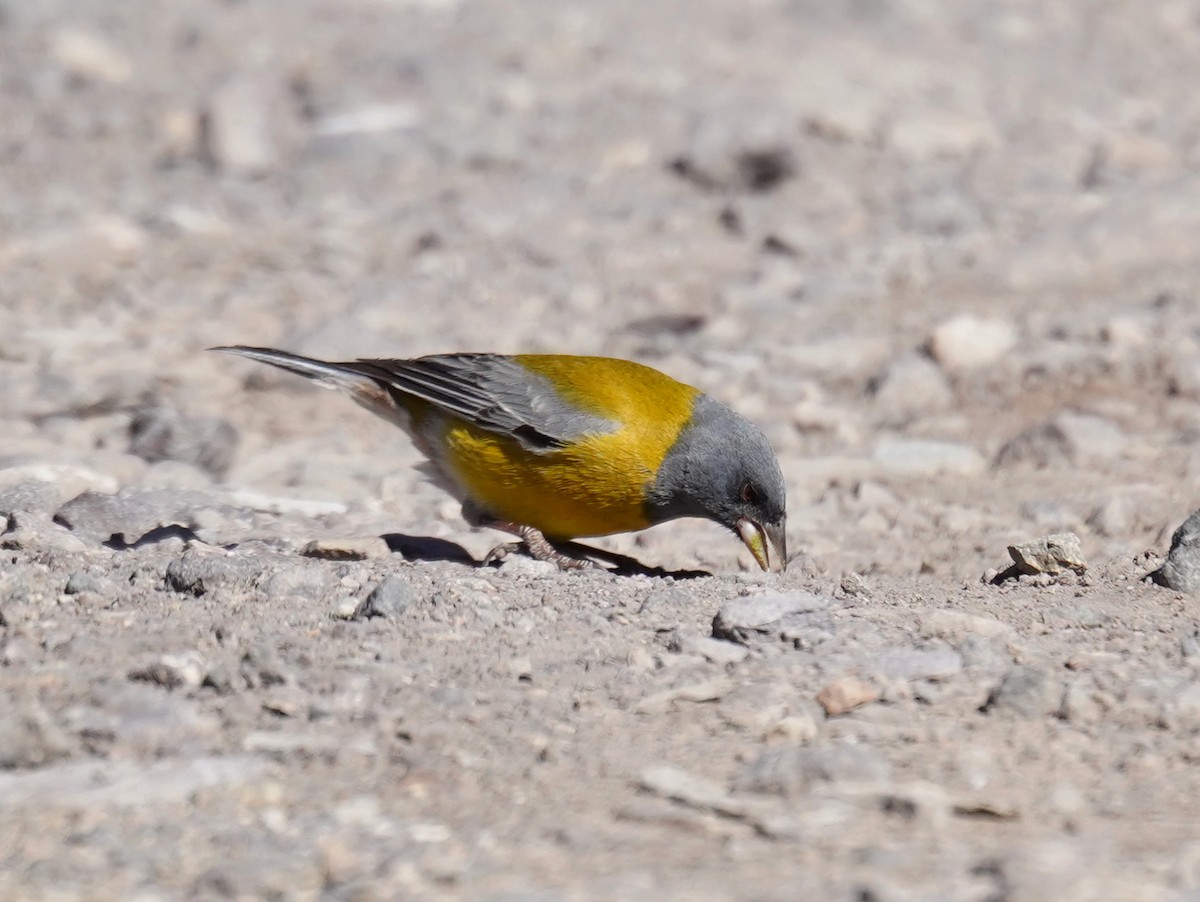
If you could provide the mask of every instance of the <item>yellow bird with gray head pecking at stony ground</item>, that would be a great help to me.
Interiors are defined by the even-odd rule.
[[[730,529],[767,571],[787,566],[786,489],[760,428],[642,363],[564,354],[438,354],[328,362],[272,348],[235,354],[312,379],[401,427],[420,469],[469,525],[560,570],[596,564],[574,540],[680,517]],[[595,549],[590,549],[595,551]],[[774,553],[774,561],[772,554]]]

